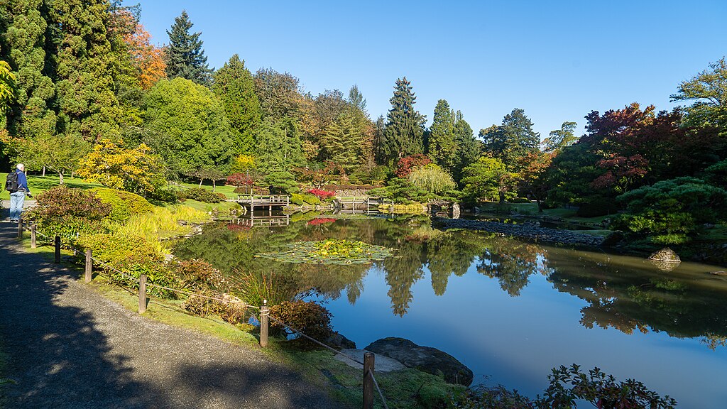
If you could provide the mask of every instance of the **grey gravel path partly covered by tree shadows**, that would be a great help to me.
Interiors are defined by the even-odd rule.
[[[337,408],[254,349],[139,317],[0,223],[6,408]]]

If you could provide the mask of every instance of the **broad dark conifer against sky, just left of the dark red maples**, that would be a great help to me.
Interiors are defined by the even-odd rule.
[[[484,140],[485,151],[515,171],[519,170],[519,159],[537,151],[540,145],[540,134],[533,130],[533,122],[520,108],[505,115],[499,127],[480,131],[480,136]]]

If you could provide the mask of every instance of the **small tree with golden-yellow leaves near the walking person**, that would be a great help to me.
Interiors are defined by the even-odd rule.
[[[89,182],[146,196],[166,184],[161,159],[145,144],[127,149],[102,140],[81,159],[78,174]]]

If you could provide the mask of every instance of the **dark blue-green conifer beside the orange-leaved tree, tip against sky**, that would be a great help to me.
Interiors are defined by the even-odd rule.
[[[169,35],[166,76],[169,79],[180,76],[197,84],[209,85],[213,70],[207,65],[207,57],[199,39],[201,33],[190,34],[192,25],[186,10],[182,10],[182,15],[174,18],[172,31],[166,31]]]

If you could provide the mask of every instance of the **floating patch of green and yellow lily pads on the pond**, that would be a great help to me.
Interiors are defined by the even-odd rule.
[[[320,242],[294,242],[276,253],[259,253],[255,257],[270,258],[284,263],[363,264],[383,260],[393,255],[387,247],[368,243],[328,239]]]

